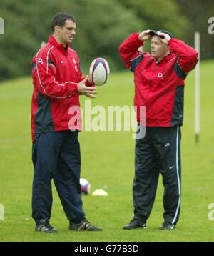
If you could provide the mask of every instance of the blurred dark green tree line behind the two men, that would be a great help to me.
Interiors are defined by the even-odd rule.
[[[30,62],[51,34],[51,18],[66,11],[77,20],[72,48],[78,52],[83,72],[91,61],[106,58],[111,70],[123,69],[118,46],[126,37],[145,29],[166,29],[194,46],[194,33],[201,35],[201,57],[214,57],[214,35],[208,19],[214,16],[213,0],[4,0],[0,16],[0,80],[31,73]],[[149,50],[146,44],[145,50]]]

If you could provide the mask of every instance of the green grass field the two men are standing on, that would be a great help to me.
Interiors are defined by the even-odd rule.
[[[185,120],[182,128],[182,201],[176,230],[158,230],[163,222],[163,185],[159,180],[156,202],[147,230],[122,230],[133,216],[133,132],[81,132],[82,175],[92,191],[105,189],[108,197],[83,196],[86,217],[103,232],[68,231],[68,220],[54,188],[51,224],[58,234],[34,232],[31,219],[31,78],[0,84],[0,241],[214,241],[214,221],[208,205],[214,202],[213,61],[201,65],[200,144],[194,135],[194,73],[186,80]],[[88,99],[82,97],[81,102]],[[132,105],[131,72],[111,74],[98,88],[92,105]]]

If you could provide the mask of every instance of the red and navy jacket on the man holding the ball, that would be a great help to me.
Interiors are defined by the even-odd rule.
[[[48,44],[34,56],[31,68],[34,83],[31,129],[34,141],[42,132],[69,129],[72,116],[68,112],[72,106],[80,106],[77,84],[83,77],[76,51],[68,46],[64,49],[54,36],[50,36]]]

